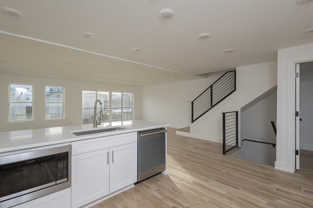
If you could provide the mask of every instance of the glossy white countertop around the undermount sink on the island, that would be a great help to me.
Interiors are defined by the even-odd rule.
[[[109,135],[116,135],[128,132],[139,132],[149,129],[157,129],[169,126],[169,124],[156,123],[144,120],[120,121],[103,123],[97,126],[97,129],[107,128],[108,126],[121,126],[126,129],[92,133],[87,135],[74,135],[73,131],[94,130],[92,124],[53,127],[44,129],[31,129],[12,132],[0,132],[0,152],[17,151],[28,148],[41,147],[46,145],[55,145],[67,142],[74,142],[84,139],[97,138]]]

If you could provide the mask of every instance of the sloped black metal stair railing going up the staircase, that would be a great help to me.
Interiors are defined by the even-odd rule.
[[[236,71],[226,72],[191,102],[191,122],[207,113],[236,91]]]

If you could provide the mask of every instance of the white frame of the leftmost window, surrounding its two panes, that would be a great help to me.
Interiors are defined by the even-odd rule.
[[[24,86],[31,86],[32,88],[32,91],[31,91],[31,97],[32,97],[32,100],[31,102],[16,102],[16,101],[11,101],[11,85],[24,85]],[[35,114],[34,114],[34,109],[35,109],[35,88],[34,88],[34,85],[32,84],[25,84],[25,83],[15,83],[15,82],[10,82],[8,84],[8,123],[22,123],[22,122],[26,122],[26,123],[29,123],[29,122],[34,122],[35,121]],[[10,114],[12,113],[11,112],[11,104],[12,103],[31,103],[31,119],[21,119],[21,120],[10,120]]]

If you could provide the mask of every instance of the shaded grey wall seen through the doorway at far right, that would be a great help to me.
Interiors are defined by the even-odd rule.
[[[313,151],[313,62],[300,64],[300,149]],[[300,151],[301,155],[301,151]]]

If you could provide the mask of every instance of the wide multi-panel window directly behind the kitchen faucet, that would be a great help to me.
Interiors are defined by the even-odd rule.
[[[100,120],[98,114],[97,121],[114,122],[133,119],[133,93],[83,91],[83,124],[93,123],[94,102],[96,99],[101,100],[103,110],[103,119]],[[110,103],[112,107],[110,107]],[[99,111],[100,104],[98,103],[97,112]]]

